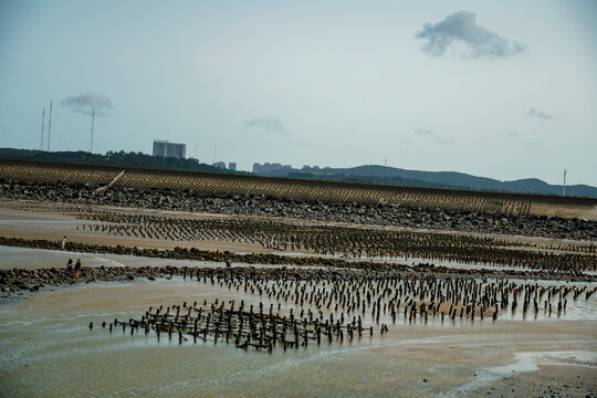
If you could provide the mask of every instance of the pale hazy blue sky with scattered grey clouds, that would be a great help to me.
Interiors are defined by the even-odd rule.
[[[0,0],[0,147],[50,101],[53,150],[597,186],[597,1]]]

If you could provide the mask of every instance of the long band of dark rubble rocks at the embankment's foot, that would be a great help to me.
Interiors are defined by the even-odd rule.
[[[63,181],[0,179],[0,198],[62,202],[78,206],[116,206],[186,212],[285,218],[353,224],[399,226],[441,231],[520,234],[574,240],[597,240],[597,222],[513,213],[498,209],[458,210],[458,206],[358,203],[294,200],[266,195],[210,195],[189,189],[114,186]],[[454,202],[461,199],[454,198]],[[448,200],[447,203],[450,203]],[[421,203],[422,205],[422,203]]]

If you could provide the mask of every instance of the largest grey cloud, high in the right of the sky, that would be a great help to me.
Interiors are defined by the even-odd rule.
[[[526,50],[523,44],[476,24],[476,15],[469,11],[454,12],[438,23],[426,23],[415,38],[427,40],[423,50],[432,56],[443,55],[453,42],[464,43],[468,51],[462,55],[470,59],[506,57]]]

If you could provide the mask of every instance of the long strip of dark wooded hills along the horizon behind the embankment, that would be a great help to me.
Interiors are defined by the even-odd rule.
[[[231,171],[201,164],[198,159],[192,158],[177,159],[171,157],[151,156],[143,153],[125,153],[123,150],[108,151],[106,155],[100,155],[90,154],[82,150],[45,151],[36,149],[0,148],[0,158],[76,165],[105,165],[153,168],[161,170],[249,175],[249,172],[244,171]],[[476,177],[463,172],[406,170],[377,165],[358,166],[353,168],[318,168],[305,166],[302,169],[284,168],[280,170],[260,172],[259,175],[264,177],[375,184],[399,187],[461,189],[510,193],[562,195],[562,186],[549,185],[536,178],[500,181],[492,178]],[[567,186],[566,196],[597,198],[597,188],[587,185]]]

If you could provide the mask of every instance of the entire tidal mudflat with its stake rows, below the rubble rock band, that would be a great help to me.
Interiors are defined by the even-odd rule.
[[[206,214],[50,203],[52,187],[0,202],[0,396],[597,391],[594,221],[465,214],[476,227],[433,232],[464,216]]]

